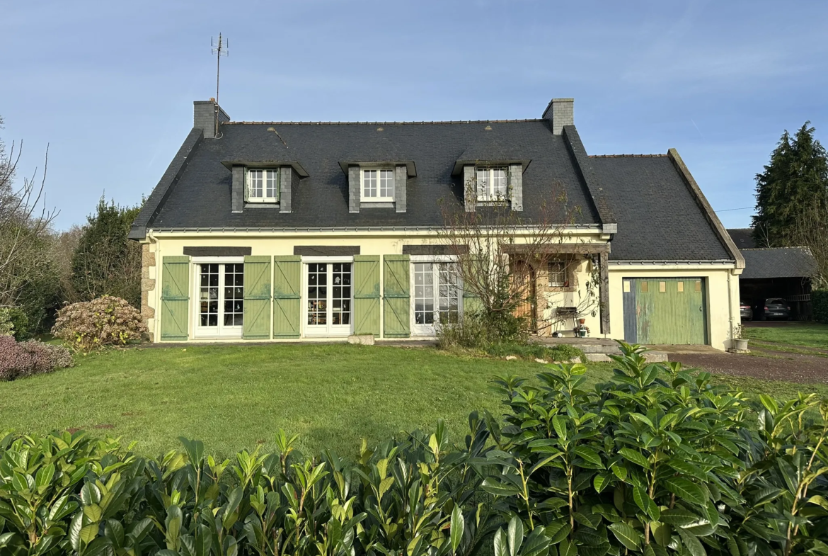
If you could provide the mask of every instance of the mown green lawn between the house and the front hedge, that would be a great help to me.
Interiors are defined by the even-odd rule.
[[[137,441],[158,455],[179,436],[230,455],[263,443],[279,428],[301,435],[300,449],[354,455],[361,438],[433,428],[444,418],[462,442],[474,409],[500,413],[494,375],[532,377],[529,361],[450,355],[433,348],[381,346],[209,346],[113,350],[79,357],[73,369],[0,382],[0,430],[26,433],[84,428]],[[611,366],[590,365],[590,382]],[[751,392],[785,397],[822,386],[728,378]]]

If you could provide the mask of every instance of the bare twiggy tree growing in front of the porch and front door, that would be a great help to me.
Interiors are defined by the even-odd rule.
[[[532,219],[512,210],[503,196],[479,203],[474,211],[466,211],[454,204],[443,206],[444,225],[440,240],[456,261],[466,292],[479,297],[481,309],[491,317],[522,318],[532,331],[543,331],[557,322],[573,319],[587,313],[595,314],[599,307],[599,267],[593,261],[585,241],[571,231],[580,207],[567,203],[560,184],[550,187],[551,200],[542,201]],[[476,196],[474,181],[466,184],[466,195]],[[578,283],[567,283],[574,289],[575,314],[549,312],[538,314],[538,270],[546,275],[553,260],[564,265],[570,279],[578,273],[570,272],[573,265],[587,260],[590,278],[580,288]],[[569,279],[569,278],[568,278]]]

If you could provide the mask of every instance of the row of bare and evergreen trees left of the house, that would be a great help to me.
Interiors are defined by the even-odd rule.
[[[2,118],[0,118],[2,129]],[[12,312],[16,336],[48,331],[67,303],[102,295],[140,308],[141,246],[127,239],[141,205],[103,196],[85,225],[55,230],[46,203],[46,168],[21,176],[22,143],[0,137],[0,310]]]

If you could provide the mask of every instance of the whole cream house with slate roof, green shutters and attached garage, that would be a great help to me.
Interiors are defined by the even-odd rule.
[[[508,254],[537,288],[539,334],[580,317],[590,336],[724,350],[739,324],[744,259],[681,157],[588,155],[573,99],[452,122],[233,122],[194,106],[130,232],[152,341],[433,337],[476,302],[447,272],[441,207],[499,197],[532,223],[561,191],[577,210],[557,223],[560,260],[533,265],[531,226]]]

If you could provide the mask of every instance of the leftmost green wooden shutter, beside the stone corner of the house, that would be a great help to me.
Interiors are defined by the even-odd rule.
[[[161,259],[161,341],[185,341],[190,331],[190,257]]]

